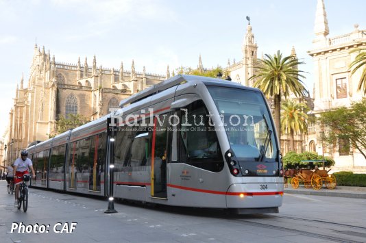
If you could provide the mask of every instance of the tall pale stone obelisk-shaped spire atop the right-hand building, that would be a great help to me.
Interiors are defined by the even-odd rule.
[[[315,16],[314,26],[315,40],[313,43],[317,46],[326,45],[326,36],[329,34],[328,20],[326,14],[326,8],[324,6],[324,0],[318,0],[317,13]]]

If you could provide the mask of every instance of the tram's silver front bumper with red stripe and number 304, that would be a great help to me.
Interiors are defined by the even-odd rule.
[[[228,208],[271,208],[282,205],[283,183],[235,183],[226,192]]]

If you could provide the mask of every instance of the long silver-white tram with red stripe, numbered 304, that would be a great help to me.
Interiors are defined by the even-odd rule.
[[[282,161],[265,97],[231,81],[177,75],[27,151],[34,187],[238,214],[282,205]]]

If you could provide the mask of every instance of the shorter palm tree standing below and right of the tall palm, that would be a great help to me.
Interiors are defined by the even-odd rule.
[[[295,133],[308,131],[309,110],[305,103],[298,103],[291,99],[282,103],[281,128],[283,133],[290,135],[290,151],[295,151]]]

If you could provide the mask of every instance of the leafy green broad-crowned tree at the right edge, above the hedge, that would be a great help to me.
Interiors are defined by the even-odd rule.
[[[319,118],[328,131],[324,133],[324,141],[335,145],[339,139],[349,140],[366,159],[366,99],[352,103],[350,108],[339,107],[324,112]],[[349,149],[349,148],[345,148]]]

